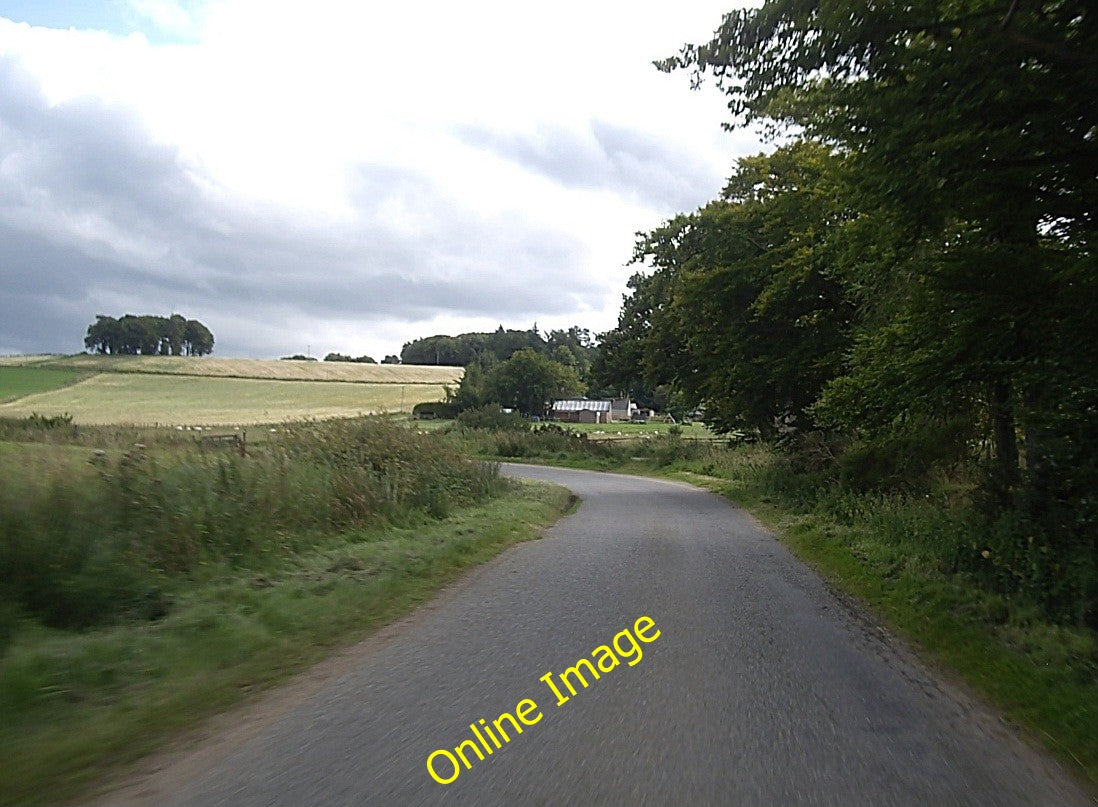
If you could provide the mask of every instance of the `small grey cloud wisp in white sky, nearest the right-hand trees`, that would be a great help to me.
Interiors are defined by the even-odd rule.
[[[652,135],[603,121],[587,136],[563,127],[535,135],[462,126],[467,145],[530,168],[565,188],[614,190],[669,213],[693,210],[720,190],[720,177],[690,153],[669,148]]]

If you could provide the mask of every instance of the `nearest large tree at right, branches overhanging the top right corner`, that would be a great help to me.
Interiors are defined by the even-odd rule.
[[[1062,410],[1050,382],[1096,386],[1095,340],[1057,327],[1096,330],[1094,4],[770,0],[661,66],[715,74],[735,123],[839,149],[890,222],[845,261],[858,346],[820,416],[967,411],[1009,491],[1018,435],[1037,449]]]

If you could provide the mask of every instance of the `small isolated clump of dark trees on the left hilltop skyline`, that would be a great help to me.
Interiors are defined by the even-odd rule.
[[[206,356],[213,352],[213,334],[198,320],[179,314],[125,314],[117,320],[97,314],[96,322],[88,326],[83,346],[112,356]]]

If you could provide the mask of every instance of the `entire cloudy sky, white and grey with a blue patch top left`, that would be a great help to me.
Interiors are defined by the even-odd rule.
[[[762,145],[653,58],[739,0],[0,0],[0,354],[613,326],[637,231]]]

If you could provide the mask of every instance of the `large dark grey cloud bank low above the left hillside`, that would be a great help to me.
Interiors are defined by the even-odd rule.
[[[351,181],[351,225],[214,199],[131,112],[49,107],[0,58],[0,347],[71,351],[97,313],[175,310],[206,322],[221,354],[273,355],[301,341],[267,340],[291,318],[524,322],[607,291],[581,244],[520,214],[478,216],[388,166]],[[414,212],[411,231],[379,215],[393,200]]]

